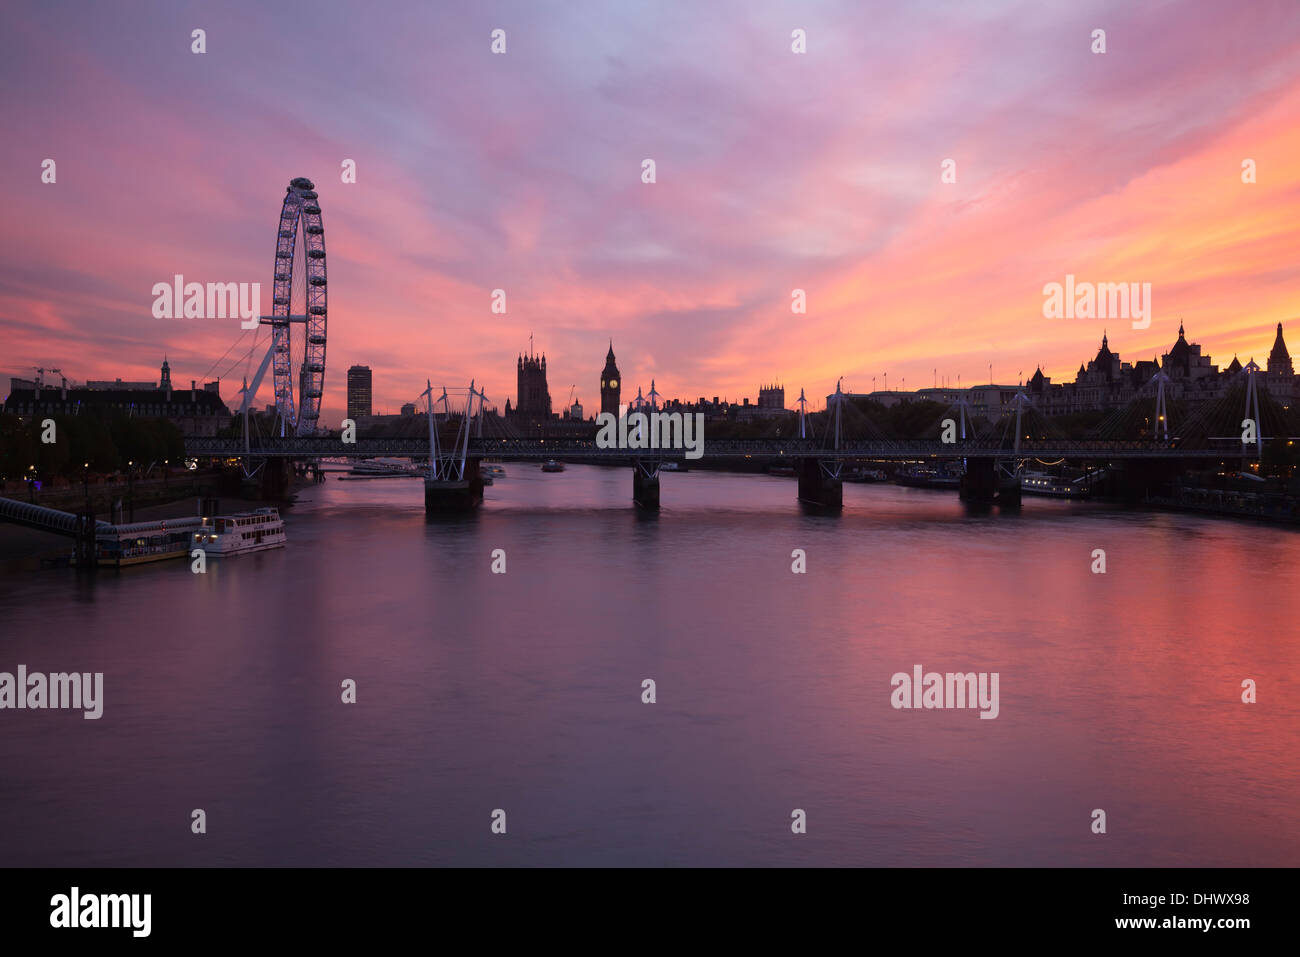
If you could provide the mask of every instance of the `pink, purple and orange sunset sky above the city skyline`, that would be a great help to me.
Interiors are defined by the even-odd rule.
[[[1071,380],[1104,332],[1126,361],[1164,355],[1180,322],[1221,368],[1262,363],[1278,322],[1300,347],[1291,0],[1248,16],[147,3],[75,21],[23,3],[4,21],[5,391],[32,367],[156,380],[165,354],[178,386],[220,374],[237,402],[265,332],[254,358],[237,319],[155,319],[151,289],[260,282],[269,311],[299,176],[329,251],[332,425],[354,364],[373,371],[376,412],[426,378],[474,378],[504,407],[530,335],[555,411],[572,384],[588,415],[611,339],[624,402],[651,378],[684,400],[775,381],[815,407],[840,378],[974,385],[992,364],[1004,384],[1040,365]],[[1149,328],[1045,319],[1044,285],[1067,274],[1150,283]]]

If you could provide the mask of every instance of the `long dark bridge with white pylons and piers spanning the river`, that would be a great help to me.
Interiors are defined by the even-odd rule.
[[[1248,369],[1253,372],[1257,367],[1252,364]],[[358,437],[355,428],[339,436],[302,430],[290,434],[285,429],[278,437],[255,436],[246,403],[242,438],[191,437],[185,446],[186,454],[198,459],[240,459],[246,469],[264,469],[264,477],[283,475],[286,460],[391,456],[428,462],[425,506],[430,511],[481,502],[478,463],[484,459],[630,464],[633,501],[646,508],[659,506],[659,469],[668,462],[705,467],[745,460],[788,464],[798,475],[800,499],[831,508],[842,502],[841,473],[848,462],[946,462],[959,463],[954,471],[961,473],[962,498],[1015,506],[1020,501],[1023,465],[1035,459],[1076,463],[1089,473],[1097,467],[1112,467],[1123,473],[1128,488],[1150,486],[1196,463],[1239,468],[1245,458],[1258,459],[1264,429],[1256,378],[1247,374],[1240,394],[1225,397],[1174,429],[1165,403],[1165,380],[1157,377],[1150,384],[1152,395],[1118,410],[1088,438],[1069,437],[1023,390],[1001,415],[983,423],[962,399],[942,410],[928,428],[914,428],[911,437],[900,437],[884,432],[881,423],[850,402],[838,385],[827,411],[815,416],[805,415],[806,399],[801,395],[797,420],[768,425],[776,429],[775,436],[708,438],[703,416],[697,415],[699,425],[692,441],[692,432],[681,428],[685,424],[681,415],[659,412],[654,404],[638,406],[619,421],[616,430],[608,428],[610,423],[601,429],[593,423],[589,430],[573,424],[562,428],[537,424],[550,434],[543,430],[520,436],[508,420],[485,413],[486,397],[471,382],[463,412],[452,410],[446,389],[437,400],[432,384],[425,389],[420,398],[428,398],[428,436]],[[441,413],[436,408],[439,403]],[[1251,428],[1238,432],[1243,413],[1242,425]],[[485,423],[489,433],[498,434],[484,436]],[[629,424],[633,424],[630,432]],[[670,428],[673,424],[676,429]],[[734,424],[722,424],[722,429],[734,433]],[[1274,429],[1273,434],[1279,433]]]

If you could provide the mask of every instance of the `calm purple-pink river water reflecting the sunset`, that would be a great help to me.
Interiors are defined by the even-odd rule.
[[[432,524],[332,478],[204,576],[0,577],[0,671],[105,697],[0,713],[0,865],[1300,863],[1296,532],[506,469]],[[918,663],[997,671],[1000,716],[892,709]]]

